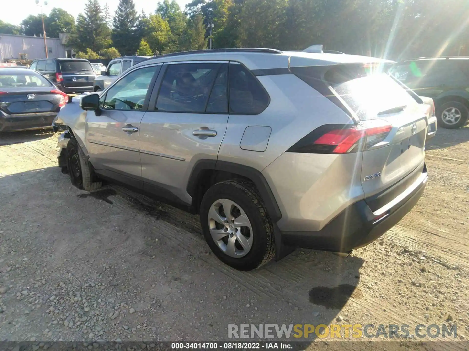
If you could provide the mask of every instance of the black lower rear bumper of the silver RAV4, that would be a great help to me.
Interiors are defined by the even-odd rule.
[[[282,243],[336,252],[348,252],[368,245],[398,223],[416,205],[427,180],[425,166],[422,175],[414,183],[375,212],[371,211],[365,200],[361,200],[317,232],[282,232]]]

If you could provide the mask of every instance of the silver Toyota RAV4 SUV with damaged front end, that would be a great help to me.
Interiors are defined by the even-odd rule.
[[[239,270],[292,247],[345,256],[428,179],[431,109],[383,63],[248,48],[151,58],[61,110],[59,166],[80,189],[118,182],[199,213]]]

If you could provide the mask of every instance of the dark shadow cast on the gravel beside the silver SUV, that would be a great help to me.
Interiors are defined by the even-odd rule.
[[[135,331],[144,322],[151,328],[139,329],[142,341],[234,341],[228,339],[229,324],[353,323],[349,305],[367,308],[357,288],[364,261],[354,253],[344,259],[296,249],[258,270],[235,271],[211,253],[197,216],[118,186],[77,190],[58,167],[0,177],[0,213],[0,241],[5,243],[0,285],[8,280],[17,286],[2,314],[8,321],[17,318],[15,310],[26,308],[15,294],[21,294],[23,277],[34,276],[37,267],[47,283],[31,292],[48,296],[55,291],[64,314],[88,315],[83,306],[68,302],[76,291],[102,301],[100,316],[113,315],[117,308],[115,320],[89,317],[105,331],[106,340],[123,340],[129,332],[122,325]],[[5,267],[13,267],[8,277],[2,276]],[[66,328],[63,321],[51,326],[51,317],[44,314],[49,305],[45,299],[37,310],[22,315],[24,335],[13,327],[3,333],[16,338],[38,334],[40,339],[44,329],[52,328],[64,340],[86,339],[90,331],[83,334],[82,326]],[[130,307],[135,314],[129,314]],[[275,329],[273,336],[262,339],[287,340]],[[311,333],[298,341],[316,338]]]

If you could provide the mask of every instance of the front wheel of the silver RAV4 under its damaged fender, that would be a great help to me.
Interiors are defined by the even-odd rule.
[[[68,174],[74,186],[87,191],[101,188],[101,182],[94,182],[96,176],[74,137],[68,140],[66,158]]]

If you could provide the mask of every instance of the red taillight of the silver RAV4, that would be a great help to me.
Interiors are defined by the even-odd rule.
[[[393,127],[381,120],[358,125],[325,124],[290,147],[288,152],[310,154],[347,154],[368,150],[386,139]]]

